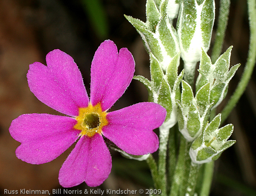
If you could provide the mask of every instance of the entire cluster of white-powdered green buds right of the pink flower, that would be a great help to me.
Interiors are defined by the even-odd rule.
[[[172,23],[177,16],[175,29]],[[240,64],[229,68],[232,47],[214,64],[207,55],[215,19],[214,0],[147,0],[146,22],[131,16],[125,18],[142,37],[150,56],[150,80],[143,76],[134,79],[147,88],[149,101],[166,108],[161,130],[169,130],[178,122],[181,134],[188,142],[193,142],[189,153],[192,161],[201,164],[215,160],[234,144],[234,141],[226,141],[233,126],[214,127],[212,124],[220,115],[213,123],[209,124],[208,119],[211,109],[225,98],[229,82]],[[181,58],[184,70],[178,74]],[[193,92],[199,60],[199,76]],[[223,131],[225,137],[219,135]],[[161,134],[166,137],[166,133],[160,131]]]

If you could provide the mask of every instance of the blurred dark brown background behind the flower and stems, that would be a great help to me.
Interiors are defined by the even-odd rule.
[[[218,18],[219,0],[215,2]],[[61,188],[59,169],[72,149],[42,165],[27,164],[16,158],[15,150],[19,142],[9,134],[11,121],[26,113],[58,115],[30,92],[26,79],[29,64],[35,61],[45,64],[45,56],[49,51],[63,50],[79,66],[89,93],[90,65],[94,52],[101,42],[111,39],[118,49],[127,47],[131,51],[136,62],[135,74],[149,78],[148,54],[139,34],[124,18],[126,14],[146,21],[145,5],[146,0],[0,0],[0,195],[4,195],[4,189],[51,191]],[[215,29],[216,26],[212,41]],[[244,0],[231,2],[223,51],[230,45],[234,46],[231,65],[241,63],[229,85],[229,92],[232,92],[240,79],[248,53],[249,26]],[[237,107],[225,122],[234,124],[231,139],[236,139],[237,143],[215,162],[211,196],[246,196],[256,193],[254,75]],[[142,84],[133,80],[124,96],[111,109],[120,109],[141,101],[147,101],[147,91]],[[219,106],[219,111],[225,101]],[[139,190],[153,186],[145,161],[127,160],[115,151],[111,151],[111,154],[112,172],[99,188]],[[89,187],[83,183],[70,190],[86,188]]]

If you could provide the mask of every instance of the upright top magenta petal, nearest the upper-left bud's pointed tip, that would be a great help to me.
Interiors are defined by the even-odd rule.
[[[91,103],[101,103],[108,110],[131,83],[135,62],[127,48],[117,51],[113,41],[106,40],[95,52],[91,64]]]

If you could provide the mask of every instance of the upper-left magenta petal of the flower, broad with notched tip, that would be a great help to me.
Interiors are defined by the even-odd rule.
[[[47,66],[35,62],[27,73],[29,88],[49,107],[69,116],[78,116],[79,107],[87,107],[89,97],[74,59],[61,50],[46,55]]]

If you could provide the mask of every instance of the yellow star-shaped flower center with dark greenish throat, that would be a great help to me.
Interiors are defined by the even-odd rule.
[[[89,103],[87,108],[79,108],[79,115],[76,117],[77,123],[74,128],[81,130],[80,135],[93,137],[96,133],[101,134],[102,127],[108,124],[107,114],[107,112],[102,111],[100,103],[95,106]]]

